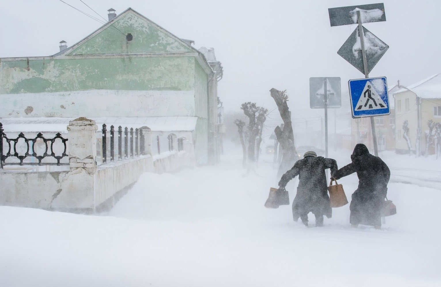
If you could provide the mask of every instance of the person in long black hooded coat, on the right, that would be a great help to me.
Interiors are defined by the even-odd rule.
[[[349,222],[381,228],[381,208],[390,178],[389,167],[379,157],[371,155],[363,143],[358,143],[351,155],[352,162],[338,170],[333,177],[339,179],[357,173],[359,185],[352,193]]]

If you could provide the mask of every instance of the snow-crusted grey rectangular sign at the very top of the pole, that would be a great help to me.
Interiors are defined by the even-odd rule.
[[[385,6],[383,3],[377,3],[329,8],[329,22],[331,26],[356,24],[357,10],[360,11],[362,23],[386,21]]]

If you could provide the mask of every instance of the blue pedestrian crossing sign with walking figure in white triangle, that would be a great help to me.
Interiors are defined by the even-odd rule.
[[[349,80],[352,117],[390,114],[386,77]]]

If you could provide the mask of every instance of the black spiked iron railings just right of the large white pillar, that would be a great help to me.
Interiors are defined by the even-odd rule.
[[[102,131],[102,147],[101,147],[101,157],[102,163],[107,162],[107,154],[110,153],[110,162],[115,161],[115,127],[110,126],[110,145],[107,144],[107,126],[103,124]],[[130,157],[143,155],[145,153],[145,140],[142,133],[142,128],[124,128],[124,142],[123,142],[123,128],[118,127],[118,160],[129,158],[129,147],[130,147]],[[129,135],[130,134],[130,135]],[[135,134],[135,137],[134,137]],[[135,144],[135,149],[134,149]],[[123,153],[124,146],[124,153]],[[108,149],[109,147],[109,149]]]

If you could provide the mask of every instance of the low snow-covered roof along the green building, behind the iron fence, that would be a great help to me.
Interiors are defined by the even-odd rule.
[[[154,132],[194,131],[198,117],[91,117],[101,130],[113,125],[122,128],[149,127]],[[75,117],[10,117],[1,118],[5,132],[67,132],[69,121]]]

